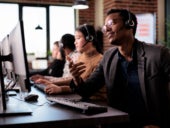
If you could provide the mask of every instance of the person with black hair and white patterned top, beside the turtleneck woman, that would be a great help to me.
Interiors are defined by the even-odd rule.
[[[76,62],[80,53],[75,50],[74,45],[74,35],[66,33],[61,37],[60,44],[64,49],[66,56],[66,62],[63,69],[63,74],[60,77],[44,76],[43,78],[33,79],[35,83],[49,84],[49,83],[58,83],[58,84],[69,84],[72,79],[72,75],[69,70],[69,61],[67,58],[71,58],[73,62]]]

